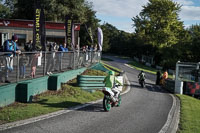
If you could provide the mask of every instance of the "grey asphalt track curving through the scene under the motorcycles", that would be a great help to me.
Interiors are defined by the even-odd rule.
[[[130,91],[122,96],[120,107],[104,112],[102,102],[63,110],[37,119],[0,126],[2,133],[158,133],[169,120],[174,100],[155,86],[155,76],[146,74],[146,88],[138,84],[139,71],[116,59],[109,62],[125,71]],[[6,129],[7,128],[7,129]]]

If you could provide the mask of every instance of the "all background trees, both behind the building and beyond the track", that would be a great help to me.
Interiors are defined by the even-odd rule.
[[[33,20],[35,0],[0,0],[0,18]],[[181,5],[172,0],[149,0],[132,18],[133,33],[99,24],[92,3],[86,0],[41,0],[45,20],[64,22],[65,16],[81,23],[80,40],[91,45],[89,32],[97,43],[96,29],[104,34],[103,52],[141,58],[154,57],[155,65],[174,68],[177,61],[199,62],[200,25],[184,27],[179,18]],[[87,28],[86,28],[87,27]]]

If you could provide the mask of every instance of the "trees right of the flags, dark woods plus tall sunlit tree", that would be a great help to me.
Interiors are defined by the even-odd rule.
[[[200,25],[184,27],[181,5],[172,0],[149,0],[132,18],[134,33],[105,23],[104,51],[141,58],[154,57],[155,65],[175,68],[176,62],[200,61]]]

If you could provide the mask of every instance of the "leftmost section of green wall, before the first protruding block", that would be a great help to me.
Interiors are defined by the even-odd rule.
[[[15,102],[16,83],[0,86],[0,107],[4,107]]]

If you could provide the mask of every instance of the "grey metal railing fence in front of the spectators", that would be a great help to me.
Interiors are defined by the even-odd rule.
[[[99,62],[101,52],[0,52],[0,85],[38,78]]]

